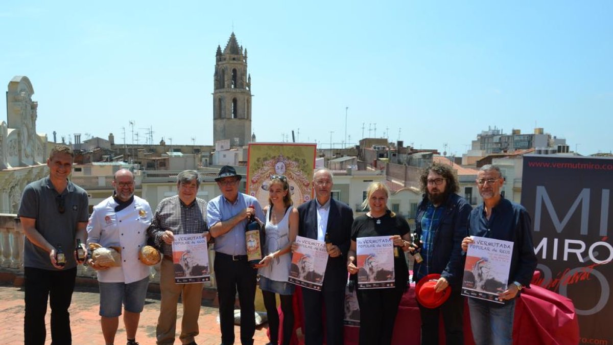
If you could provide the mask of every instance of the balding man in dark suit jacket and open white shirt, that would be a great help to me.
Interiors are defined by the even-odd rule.
[[[343,344],[343,314],[345,312],[345,284],[347,283],[347,251],[351,241],[353,212],[351,207],[333,200],[332,171],[318,169],[313,174],[314,200],[298,207],[300,223],[298,235],[324,241],[326,233],[332,247],[321,291],[302,289],[305,320],[305,345],[324,343],[322,320],[326,319],[326,344]],[[326,316],[322,317],[322,306]]]

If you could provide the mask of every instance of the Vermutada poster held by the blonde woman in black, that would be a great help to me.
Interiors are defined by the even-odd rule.
[[[357,285],[360,289],[394,287],[394,242],[389,237],[356,239]]]

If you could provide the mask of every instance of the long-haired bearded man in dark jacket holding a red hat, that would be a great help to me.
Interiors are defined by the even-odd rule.
[[[421,344],[438,344],[439,314],[443,314],[447,344],[463,344],[462,273],[465,257],[460,244],[466,236],[466,223],[471,207],[456,193],[459,183],[451,166],[434,163],[421,174],[424,199],[417,205],[415,232],[421,238],[421,256],[413,267],[417,285],[427,282],[430,298],[444,295],[446,300],[419,298]],[[414,248],[409,248],[414,252]],[[434,282],[433,282],[433,279]],[[432,283],[434,283],[432,285]],[[432,286],[430,286],[432,285]],[[432,290],[432,291],[430,291]],[[443,293],[446,290],[448,293]]]

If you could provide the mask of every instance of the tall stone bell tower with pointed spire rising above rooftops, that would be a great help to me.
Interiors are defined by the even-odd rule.
[[[223,52],[215,54],[213,85],[213,144],[230,139],[230,146],[251,141],[251,75],[247,73],[247,50],[238,45],[234,33]]]

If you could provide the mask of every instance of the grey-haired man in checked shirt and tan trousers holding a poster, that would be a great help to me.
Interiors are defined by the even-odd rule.
[[[160,290],[162,293],[156,337],[158,344],[173,344],[177,325],[177,303],[183,301],[183,319],[179,339],[184,345],[196,345],[198,316],[202,302],[202,284],[175,283],[175,269],[172,262],[172,241],[174,235],[202,233],[209,238],[207,227],[207,202],[196,198],[200,187],[197,171],[181,171],[177,176],[178,195],[162,200],[153,215],[148,235],[156,246],[162,249]]]

